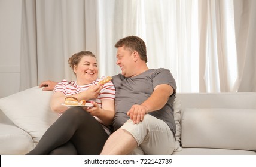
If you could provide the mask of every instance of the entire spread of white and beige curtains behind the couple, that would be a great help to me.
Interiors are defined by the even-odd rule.
[[[115,42],[136,35],[147,45],[148,67],[169,69],[178,92],[256,91],[255,6],[253,0],[23,0],[20,88],[74,79],[67,60],[81,50],[96,54],[100,76],[115,75]]]

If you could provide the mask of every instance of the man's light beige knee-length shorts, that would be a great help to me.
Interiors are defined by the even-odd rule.
[[[138,124],[129,119],[120,129],[130,132],[140,147],[130,154],[142,154],[138,153],[141,149],[144,154],[172,154],[175,149],[175,137],[169,126],[154,116],[147,114]]]

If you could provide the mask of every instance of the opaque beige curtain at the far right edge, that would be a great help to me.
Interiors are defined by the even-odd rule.
[[[256,92],[256,1],[234,0],[238,92]]]

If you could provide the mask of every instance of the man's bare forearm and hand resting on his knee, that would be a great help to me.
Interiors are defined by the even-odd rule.
[[[157,85],[153,94],[141,105],[133,105],[127,115],[133,120],[133,123],[139,123],[144,119],[144,115],[160,110],[167,103],[170,95],[173,94],[173,88],[167,84]]]

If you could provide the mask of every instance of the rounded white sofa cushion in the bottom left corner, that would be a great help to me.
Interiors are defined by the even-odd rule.
[[[13,123],[0,124],[0,154],[26,154],[34,147],[31,136]]]

